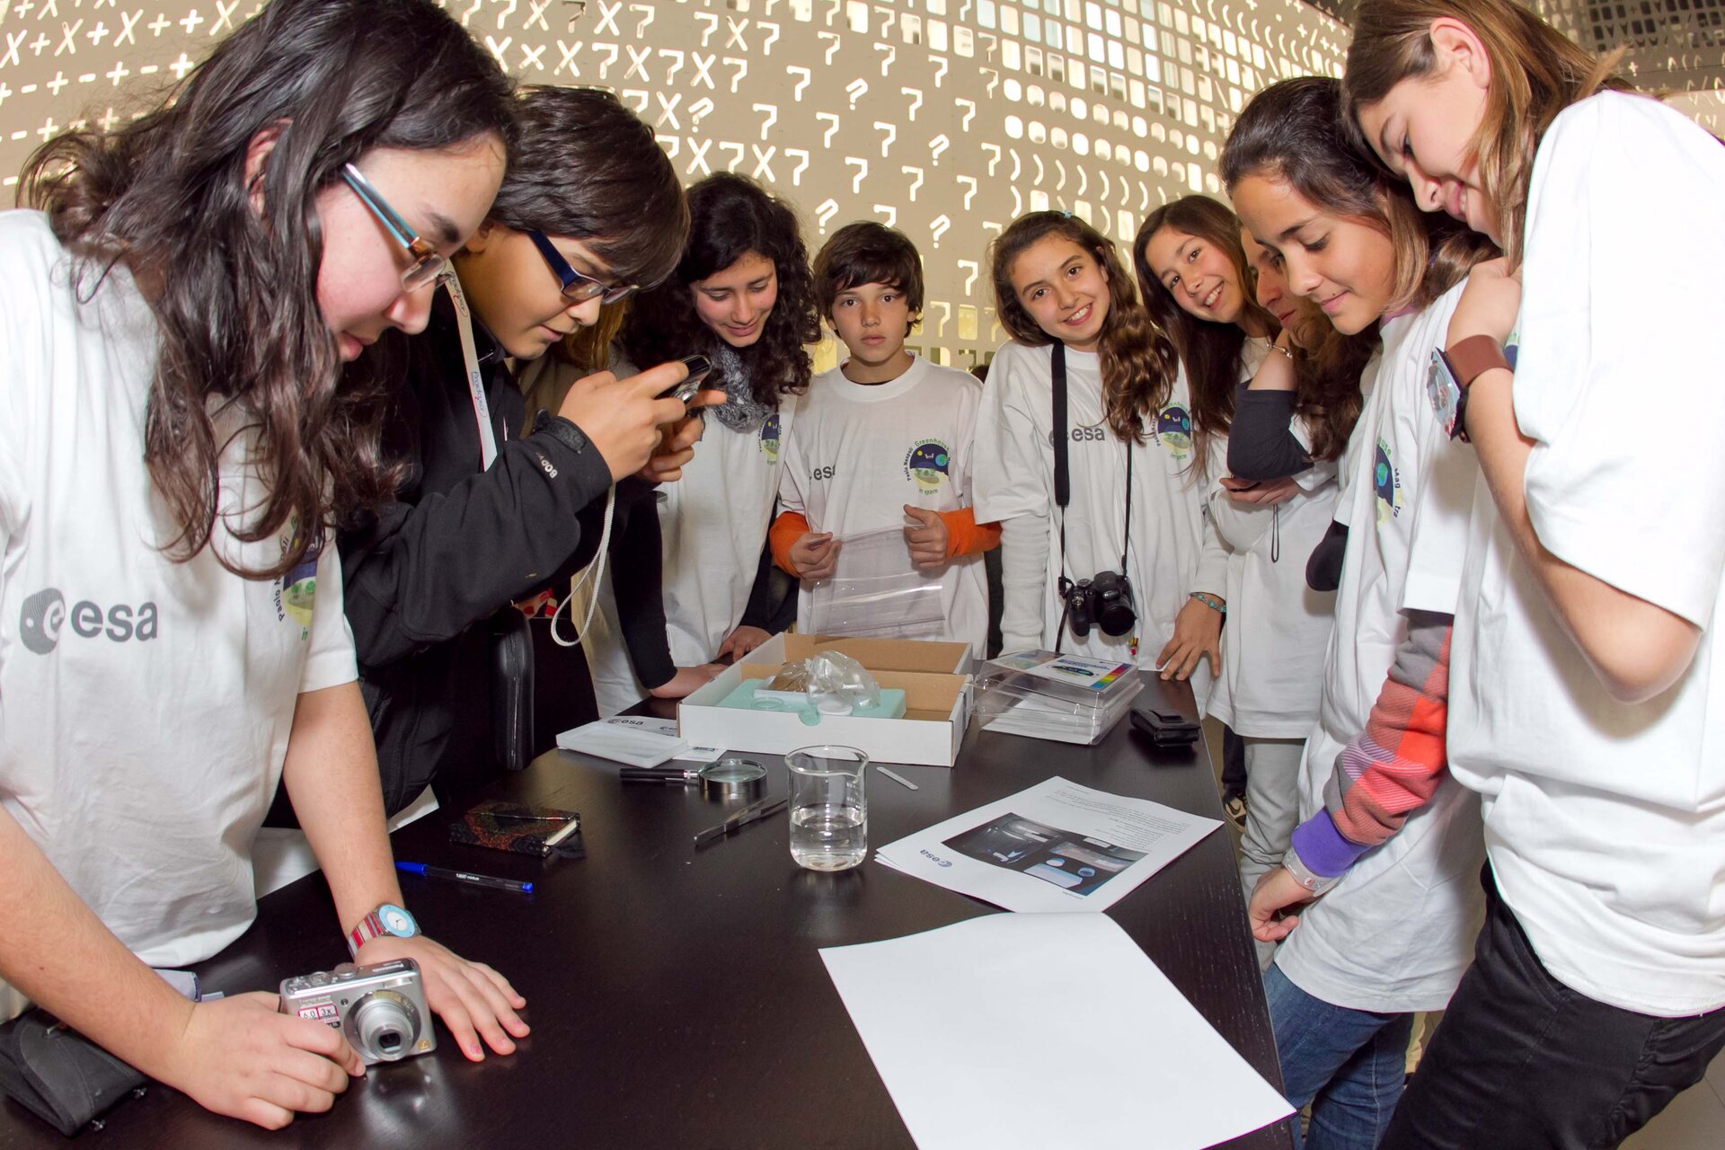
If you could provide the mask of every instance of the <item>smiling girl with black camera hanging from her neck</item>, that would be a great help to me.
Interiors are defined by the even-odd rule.
[[[988,369],[976,424],[976,519],[1000,521],[1004,650],[1063,650],[1164,667],[1185,678],[1209,653],[1221,562],[1197,574],[1201,490],[1189,483],[1192,417],[1173,345],[1151,324],[1114,245],[1066,212],[1032,212],[990,250],[1000,324],[1013,336]],[[1056,359],[1056,352],[1059,357]],[[1066,422],[1054,422],[1056,364]],[[1066,438],[1070,502],[1056,491],[1054,436]],[[1223,559],[1218,555],[1218,560]],[[1137,622],[1073,631],[1066,584],[1125,574]],[[1209,579],[1209,581],[1206,581]]]

